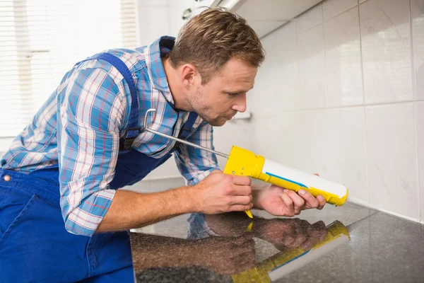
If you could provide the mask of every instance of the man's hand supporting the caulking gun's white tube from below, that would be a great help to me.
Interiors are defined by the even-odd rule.
[[[282,187],[271,185],[256,194],[255,207],[265,209],[276,216],[293,217],[305,209],[322,209],[326,204],[324,197],[315,198],[306,190],[285,190]]]

